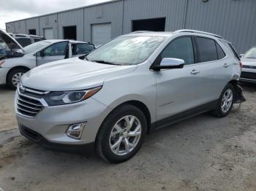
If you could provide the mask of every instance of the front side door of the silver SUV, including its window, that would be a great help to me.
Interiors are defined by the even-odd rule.
[[[154,71],[157,80],[157,120],[195,108],[200,104],[200,70],[195,63],[191,36],[174,39],[157,58],[179,58],[185,61],[183,69]]]

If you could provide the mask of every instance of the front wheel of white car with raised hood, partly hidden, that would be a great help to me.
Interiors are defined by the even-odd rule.
[[[20,78],[22,77],[23,74],[25,74],[28,70],[26,69],[14,69],[8,74],[7,76],[7,86],[15,90],[18,83],[20,82]]]

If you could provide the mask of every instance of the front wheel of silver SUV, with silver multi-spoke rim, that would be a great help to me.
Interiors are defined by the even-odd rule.
[[[146,132],[146,117],[140,109],[129,104],[119,106],[99,129],[97,154],[110,163],[129,160],[140,149]]]

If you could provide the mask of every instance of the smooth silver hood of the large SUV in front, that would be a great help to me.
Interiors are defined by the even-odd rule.
[[[134,71],[136,67],[113,66],[70,58],[32,69],[23,75],[21,83],[37,90],[86,90],[103,85],[105,79],[110,77]]]

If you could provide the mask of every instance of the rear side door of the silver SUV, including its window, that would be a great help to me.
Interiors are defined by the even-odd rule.
[[[195,36],[200,70],[200,99],[202,104],[217,100],[230,79],[231,63],[214,39]]]

